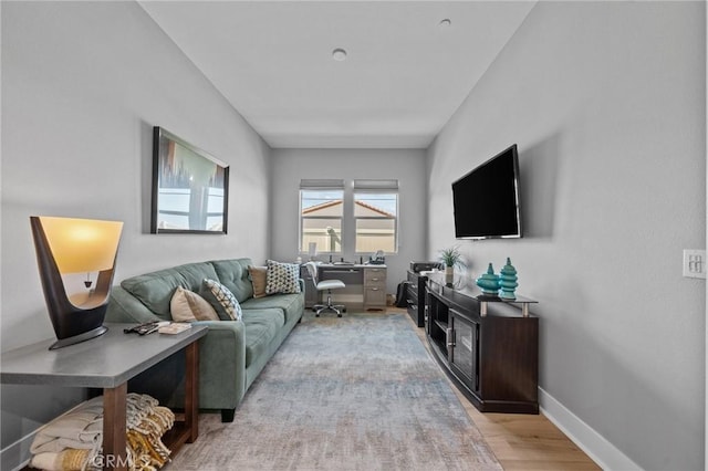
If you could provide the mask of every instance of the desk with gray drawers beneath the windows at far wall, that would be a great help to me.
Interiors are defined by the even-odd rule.
[[[305,307],[312,307],[320,303],[320,293],[304,265],[300,274],[305,280]],[[364,311],[386,308],[386,265],[322,263],[317,265],[317,278],[342,280],[346,289],[341,291],[356,294]]]

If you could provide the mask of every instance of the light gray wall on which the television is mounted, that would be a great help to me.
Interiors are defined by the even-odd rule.
[[[539,2],[428,153],[430,255],[454,242],[449,184],[519,144],[525,238],[464,242],[469,279],[511,257],[540,386],[611,469],[704,467],[706,284],[681,278],[706,234],[704,9]]]

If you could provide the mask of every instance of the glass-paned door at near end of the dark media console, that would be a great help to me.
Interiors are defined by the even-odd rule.
[[[450,310],[454,338],[450,368],[472,391],[479,393],[479,324]]]

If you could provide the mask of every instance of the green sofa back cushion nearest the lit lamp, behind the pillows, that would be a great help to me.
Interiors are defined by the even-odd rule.
[[[155,314],[171,318],[169,303],[177,286],[198,292],[206,278],[217,279],[211,263],[188,263],[128,278],[121,282],[121,286]]]

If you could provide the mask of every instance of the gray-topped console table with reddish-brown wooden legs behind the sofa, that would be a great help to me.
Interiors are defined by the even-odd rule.
[[[50,350],[49,339],[2,354],[0,383],[61,387],[103,388],[104,469],[126,469],[127,381],[168,356],[185,350],[186,391],[184,420],[175,421],[163,441],[174,451],[198,436],[198,339],[206,326],[192,326],[176,335],[124,334],[134,324],[105,324],[108,332],[91,341]]]

